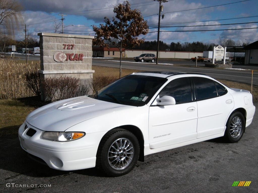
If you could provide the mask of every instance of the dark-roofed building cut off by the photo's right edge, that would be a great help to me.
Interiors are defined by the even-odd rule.
[[[244,47],[245,64],[258,64],[258,41]]]

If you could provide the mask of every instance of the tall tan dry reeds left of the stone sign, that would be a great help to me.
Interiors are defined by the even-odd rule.
[[[39,69],[38,63],[19,63],[15,60],[0,59],[0,99],[33,96],[27,86],[25,74]]]

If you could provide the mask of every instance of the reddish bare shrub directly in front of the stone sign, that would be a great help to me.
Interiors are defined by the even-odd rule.
[[[69,99],[76,95],[79,78],[60,76],[47,77],[42,81],[46,100],[57,101]]]

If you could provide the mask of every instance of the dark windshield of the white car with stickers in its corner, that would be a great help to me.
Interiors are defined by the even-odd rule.
[[[128,75],[89,97],[131,106],[143,106],[167,81],[154,76]]]

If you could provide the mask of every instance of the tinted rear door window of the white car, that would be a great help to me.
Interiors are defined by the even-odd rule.
[[[192,77],[195,85],[196,99],[203,100],[217,96],[213,80],[202,77]]]

